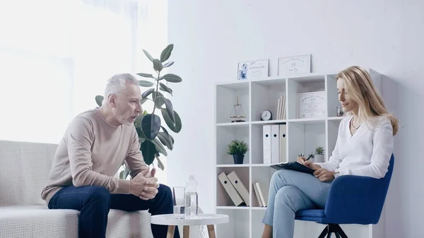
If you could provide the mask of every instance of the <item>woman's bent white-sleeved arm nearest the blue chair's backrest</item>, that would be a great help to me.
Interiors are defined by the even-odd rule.
[[[393,153],[393,127],[389,119],[375,129],[372,138],[372,155],[370,165],[355,169],[340,169],[340,175],[359,175],[381,179],[389,169],[391,153]]]

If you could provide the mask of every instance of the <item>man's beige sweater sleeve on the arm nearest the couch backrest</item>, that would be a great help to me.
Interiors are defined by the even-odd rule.
[[[93,125],[76,117],[66,135],[73,186],[103,186],[111,194],[129,194],[129,180],[109,177],[92,170]]]

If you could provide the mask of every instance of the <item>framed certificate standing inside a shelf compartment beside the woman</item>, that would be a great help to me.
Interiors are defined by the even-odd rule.
[[[298,93],[298,118],[325,117],[325,92]]]

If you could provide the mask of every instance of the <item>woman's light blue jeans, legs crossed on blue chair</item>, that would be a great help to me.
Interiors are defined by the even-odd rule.
[[[262,222],[273,227],[273,237],[293,238],[295,213],[324,208],[330,186],[331,182],[321,182],[312,174],[278,170],[269,184],[268,208]]]

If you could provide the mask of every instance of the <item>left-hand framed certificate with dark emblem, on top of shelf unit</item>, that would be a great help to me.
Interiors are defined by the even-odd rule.
[[[268,77],[269,59],[246,61],[238,64],[237,78],[250,80]]]

